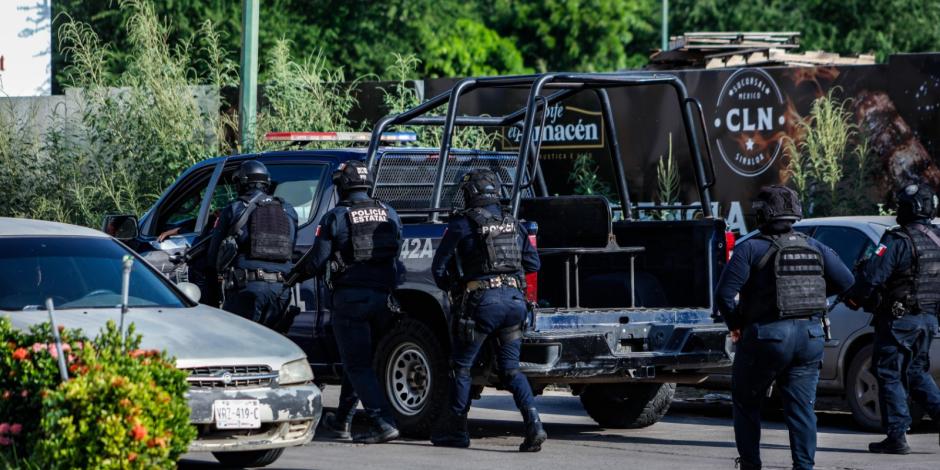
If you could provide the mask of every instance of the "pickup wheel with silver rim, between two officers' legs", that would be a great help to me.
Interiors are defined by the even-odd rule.
[[[375,370],[399,430],[426,439],[450,397],[447,355],[434,332],[405,318],[379,342]]]

